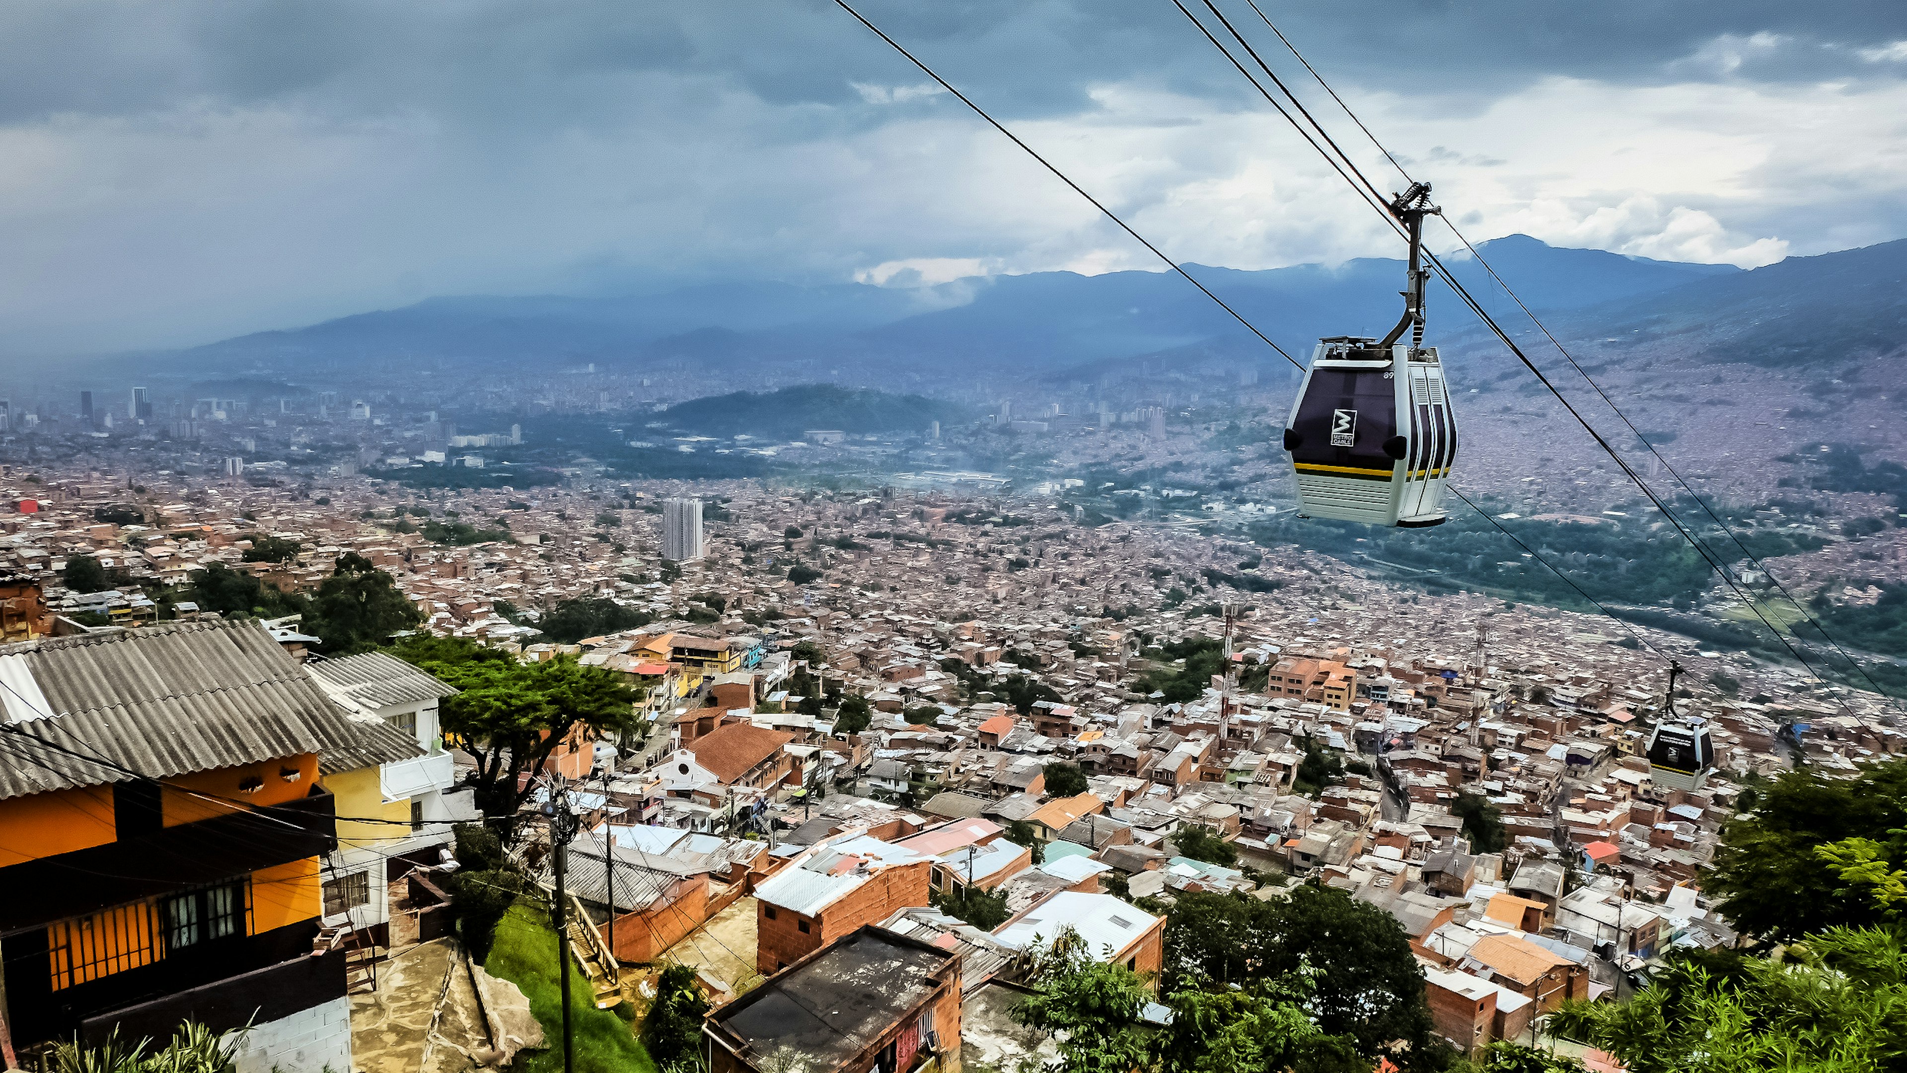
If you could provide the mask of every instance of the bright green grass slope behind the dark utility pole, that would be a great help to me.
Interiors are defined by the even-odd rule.
[[[511,1065],[513,1073],[563,1069],[563,989],[557,983],[557,934],[549,930],[549,915],[523,901],[511,905],[496,926],[496,941],[482,966],[523,989],[549,1039],[543,1050],[523,1052]],[[624,1012],[633,1016],[629,1002],[597,1010],[584,970],[570,964],[576,1073],[656,1073],[656,1063],[635,1039]]]

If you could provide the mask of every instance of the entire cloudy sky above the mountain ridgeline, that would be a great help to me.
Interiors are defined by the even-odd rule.
[[[1396,254],[1171,0],[858,6],[1175,260]],[[1907,235],[1899,0],[1261,6],[1472,239],[1758,265]],[[830,0],[0,8],[0,353],[1125,267],[1158,265]]]

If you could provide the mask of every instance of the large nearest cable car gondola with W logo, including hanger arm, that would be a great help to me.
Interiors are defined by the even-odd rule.
[[[1421,529],[1444,523],[1444,483],[1457,460],[1457,418],[1444,365],[1425,338],[1423,221],[1430,185],[1390,202],[1409,242],[1404,317],[1383,340],[1331,336],[1312,351],[1285,422],[1299,514]],[[1411,342],[1398,342],[1409,328]]]

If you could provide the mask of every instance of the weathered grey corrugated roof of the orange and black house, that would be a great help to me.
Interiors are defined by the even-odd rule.
[[[0,800],[126,781],[114,766],[170,779],[364,737],[256,621],[42,638],[0,657],[19,657],[48,705],[0,735]]]

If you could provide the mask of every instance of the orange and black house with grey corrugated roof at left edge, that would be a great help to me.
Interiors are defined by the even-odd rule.
[[[0,1058],[191,1018],[254,1025],[240,1071],[347,1069],[318,756],[364,731],[257,622],[4,645],[0,682]]]

